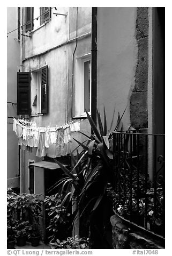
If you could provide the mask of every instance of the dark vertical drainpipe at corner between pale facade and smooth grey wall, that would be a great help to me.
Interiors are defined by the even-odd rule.
[[[96,108],[97,108],[97,16],[98,8],[92,7],[92,69],[91,69],[91,84],[92,84],[92,99],[91,99],[91,116],[96,124]],[[93,134],[93,131],[92,131]]]

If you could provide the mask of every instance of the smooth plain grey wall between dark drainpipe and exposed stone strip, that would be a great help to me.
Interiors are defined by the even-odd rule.
[[[130,126],[130,96],[135,84],[138,46],[135,36],[137,8],[98,8],[98,108],[107,112],[110,125],[116,106]]]

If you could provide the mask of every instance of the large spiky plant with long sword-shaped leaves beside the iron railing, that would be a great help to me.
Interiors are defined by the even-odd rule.
[[[126,110],[126,108],[125,108]],[[124,112],[125,112],[124,110]],[[97,110],[98,127],[93,122],[88,112],[87,117],[93,134],[87,136],[84,143],[77,141],[78,146],[83,148],[83,151],[78,153],[76,148],[76,155],[71,152],[71,169],[64,167],[61,162],[56,161],[64,171],[65,177],[57,182],[51,189],[59,187],[64,194],[62,207],[66,206],[74,198],[76,206],[76,216],[73,224],[78,218],[84,214],[89,217],[98,208],[102,202],[104,195],[106,195],[106,188],[108,183],[114,185],[114,171],[113,171],[113,131],[122,130],[122,116],[118,113],[117,122],[114,125],[115,109],[113,118],[111,120],[110,129],[107,131],[107,118],[105,109],[103,111],[103,122],[100,112]],[[113,127],[115,128],[113,129]]]

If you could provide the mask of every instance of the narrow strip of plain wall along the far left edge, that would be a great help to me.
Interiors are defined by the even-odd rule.
[[[7,31],[17,27],[17,8],[7,8]],[[16,73],[20,66],[20,42],[17,40],[17,31],[9,34],[7,38],[7,102],[17,102]],[[7,116],[16,117],[17,106],[7,104]],[[11,118],[7,122],[12,123]],[[13,125],[7,124],[7,179],[18,176],[18,139],[13,132]],[[19,179],[8,180],[8,187],[18,187]]]

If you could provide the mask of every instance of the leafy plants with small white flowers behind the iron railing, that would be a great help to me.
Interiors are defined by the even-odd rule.
[[[119,191],[116,192],[110,188],[108,195],[111,198],[114,209],[117,209],[117,213],[124,218],[128,219],[130,215],[144,216],[147,215],[149,223],[160,226],[162,224],[162,203],[163,203],[163,189],[162,186],[156,188],[156,212],[154,212],[154,188],[152,182],[147,177],[147,187],[145,188],[145,175],[139,174],[137,170],[132,170],[132,179],[129,172],[121,173],[125,180],[121,181],[121,188],[124,188],[125,193],[121,190],[120,200]],[[131,179],[131,181],[130,181]],[[130,189],[130,182],[132,182],[132,190]],[[139,184],[139,187],[137,185]],[[145,204],[147,203],[147,210]]]

